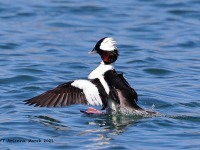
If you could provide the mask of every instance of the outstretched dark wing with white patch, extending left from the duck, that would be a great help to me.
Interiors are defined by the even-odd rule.
[[[99,81],[75,80],[59,85],[41,95],[25,100],[26,104],[40,107],[58,107],[72,104],[106,105],[106,95],[100,93]]]

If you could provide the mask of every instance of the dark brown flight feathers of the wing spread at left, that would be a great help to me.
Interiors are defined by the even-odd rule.
[[[25,100],[26,104],[40,107],[58,107],[72,104],[87,104],[83,90],[71,86],[72,82],[59,85],[41,95]]]

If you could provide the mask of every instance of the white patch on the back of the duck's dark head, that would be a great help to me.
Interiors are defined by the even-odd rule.
[[[107,37],[101,42],[100,49],[104,51],[114,51],[117,49],[116,44],[117,42],[113,40],[113,38]]]

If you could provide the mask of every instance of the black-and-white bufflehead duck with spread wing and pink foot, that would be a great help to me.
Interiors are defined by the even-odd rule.
[[[59,107],[72,104],[102,106],[107,112],[147,112],[137,105],[136,91],[129,85],[123,74],[117,73],[114,63],[118,48],[111,37],[100,39],[90,53],[101,56],[102,62],[93,70],[88,79],[78,79],[57,86],[41,95],[25,100],[26,104],[40,107]],[[102,112],[89,107],[87,114]]]

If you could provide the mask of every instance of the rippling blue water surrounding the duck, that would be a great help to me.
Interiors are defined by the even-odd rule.
[[[1,0],[0,149],[199,149],[199,8],[198,0]],[[100,61],[87,52],[104,36],[117,40],[116,68],[139,105],[162,115],[92,117],[79,112],[84,105],[24,105],[86,78]]]

